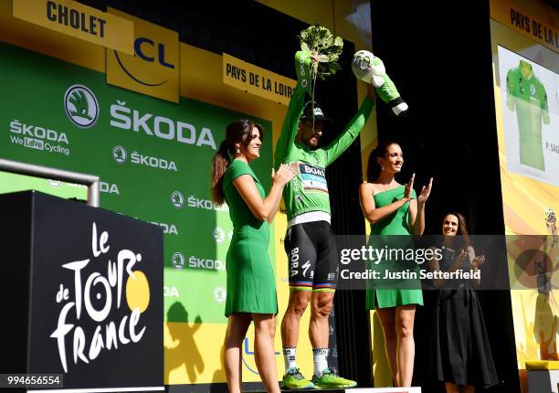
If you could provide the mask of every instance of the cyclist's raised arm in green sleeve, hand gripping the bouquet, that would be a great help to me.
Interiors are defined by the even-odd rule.
[[[274,166],[278,167],[285,157],[290,154],[291,147],[295,142],[299,129],[303,105],[305,103],[305,91],[311,92],[311,52],[299,51],[295,54],[295,70],[297,72],[297,86],[291,94],[290,105],[285,114],[281,126],[280,139],[276,143],[274,154]]]

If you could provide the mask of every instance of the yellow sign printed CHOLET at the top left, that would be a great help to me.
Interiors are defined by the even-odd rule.
[[[69,0],[14,0],[14,17],[93,44],[133,53],[134,25]]]

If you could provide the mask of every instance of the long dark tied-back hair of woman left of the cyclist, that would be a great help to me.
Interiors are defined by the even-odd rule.
[[[260,141],[264,138],[262,126],[258,122],[248,119],[237,120],[227,125],[226,139],[219,144],[216,155],[212,160],[212,200],[217,205],[225,202],[225,195],[221,187],[223,175],[227,171],[227,166],[231,163],[231,157],[235,154],[235,143],[242,143],[245,146],[250,143],[253,128],[258,129]]]

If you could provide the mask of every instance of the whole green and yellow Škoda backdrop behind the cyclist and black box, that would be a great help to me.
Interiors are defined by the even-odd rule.
[[[53,2],[44,3],[44,10],[53,11],[47,7]],[[273,143],[294,81],[258,69],[282,87],[239,90],[225,82],[230,75],[224,57],[179,42],[174,31],[111,8],[100,13],[74,2],[57,4],[58,11],[67,7],[68,20],[52,13],[21,19],[12,1],[0,0],[0,157],[99,175],[101,207],[163,228],[164,383],[200,389],[223,383],[231,223],[227,207],[209,200],[210,160],[227,123],[254,119],[265,136],[253,168],[269,189]],[[99,37],[84,40],[72,15],[117,26],[107,30],[111,37],[100,37],[96,27]],[[132,44],[115,34],[133,37]],[[35,188],[60,197],[86,195],[84,186],[46,179],[0,173],[0,180],[2,193]],[[269,250],[277,266],[280,315],[289,298],[286,226],[280,213]],[[301,324],[309,324],[309,313]],[[331,335],[335,343],[333,328]],[[253,337],[251,327],[243,346],[245,381],[259,381]],[[280,343],[276,335],[281,375]],[[333,365],[335,357],[332,346]],[[305,329],[298,363],[311,375]]]

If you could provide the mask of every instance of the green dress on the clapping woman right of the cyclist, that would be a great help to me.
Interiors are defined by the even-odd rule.
[[[405,186],[374,194],[374,206],[385,207],[404,197]],[[416,192],[412,190],[412,198],[417,198]],[[394,236],[396,235],[396,236]],[[390,216],[371,224],[371,236],[369,246],[385,250],[413,250],[413,239],[409,228],[409,202],[399,207]],[[419,265],[413,260],[377,260],[370,262],[374,271],[380,273],[381,280],[367,282],[367,310],[375,307],[387,308],[405,304],[423,305],[423,292],[421,292],[421,281],[419,279]],[[417,280],[402,278],[383,280],[385,271],[416,273]],[[410,274],[413,276],[413,274]],[[376,300],[376,302],[375,302]]]

